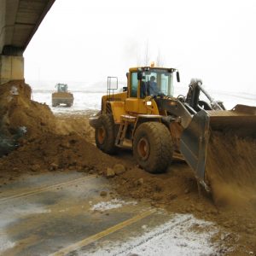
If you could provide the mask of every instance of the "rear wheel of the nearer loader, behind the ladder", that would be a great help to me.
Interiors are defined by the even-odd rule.
[[[99,125],[95,129],[95,140],[97,148],[100,148],[104,153],[116,153],[114,129],[113,115],[102,114],[99,118]]]

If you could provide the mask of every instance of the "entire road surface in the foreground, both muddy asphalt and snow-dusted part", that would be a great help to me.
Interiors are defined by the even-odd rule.
[[[207,234],[189,233],[194,224]],[[0,189],[1,255],[210,255],[206,238],[215,231],[119,198],[108,179],[81,172],[24,176]]]

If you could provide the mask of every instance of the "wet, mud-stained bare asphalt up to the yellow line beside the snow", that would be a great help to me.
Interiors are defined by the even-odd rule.
[[[0,253],[4,255],[86,250],[155,212],[144,203],[116,198],[107,179],[79,172],[23,177],[1,192]]]

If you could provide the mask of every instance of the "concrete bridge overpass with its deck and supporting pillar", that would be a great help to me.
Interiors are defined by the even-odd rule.
[[[23,52],[55,0],[0,0],[0,84],[24,79]]]

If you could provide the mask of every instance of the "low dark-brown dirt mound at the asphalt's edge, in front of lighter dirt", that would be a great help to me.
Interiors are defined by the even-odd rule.
[[[117,162],[76,134],[43,134],[20,142],[20,148],[1,160],[0,173],[44,170],[100,172],[105,166]]]

